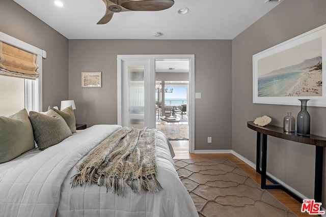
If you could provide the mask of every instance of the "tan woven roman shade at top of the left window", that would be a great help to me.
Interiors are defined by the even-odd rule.
[[[0,75],[35,80],[37,55],[0,41]]]

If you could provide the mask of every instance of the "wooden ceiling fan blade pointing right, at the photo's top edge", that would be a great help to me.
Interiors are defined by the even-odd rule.
[[[143,1],[123,1],[119,4],[131,11],[161,11],[171,8],[173,0],[143,0]]]

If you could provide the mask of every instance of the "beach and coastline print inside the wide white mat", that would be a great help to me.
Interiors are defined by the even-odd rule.
[[[258,97],[322,96],[321,37],[258,59]]]

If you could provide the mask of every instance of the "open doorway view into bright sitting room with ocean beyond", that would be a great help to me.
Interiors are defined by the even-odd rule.
[[[189,140],[189,60],[155,60],[155,128],[170,141]]]

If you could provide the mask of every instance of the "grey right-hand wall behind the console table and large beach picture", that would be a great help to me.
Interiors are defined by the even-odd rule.
[[[243,157],[256,162],[256,132],[247,121],[268,115],[271,124],[282,127],[287,112],[296,117],[300,111],[300,106],[252,103],[252,56],[325,23],[326,1],[286,0],[232,40],[232,149]],[[326,136],[326,108],[308,102],[308,111],[311,133]],[[273,137],[267,143],[267,172],[313,198],[314,146]]]

